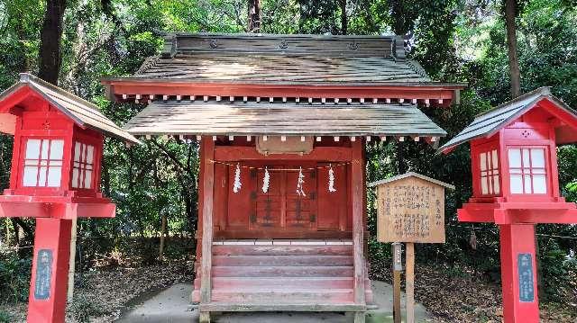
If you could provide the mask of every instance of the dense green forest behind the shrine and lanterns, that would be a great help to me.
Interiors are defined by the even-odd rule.
[[[577,108],[577,2],[513,3],[521,93],[552,86],[554,95]],[[50,14],[62,19],[47,29],[45,17]],[[144,58],[160,51],[162,31],[404,35],[408,56],[416,58],[431,78],[469,84],[461,104],[423,108],[449,132],[447,138],[475,114],[511,98],[505,1],[491,0],[0,0],[0,90],[14,84],[24,71],[52,77],[52,82],[96,103],[122,125],[143,106],[106,101],[99,80],[133,74]],[[52,40],[44,41],[49,47],[61,40],[60,58],[51,65],[47,56],[51,49],[41,46],[42,37]],[[9,180],[11,140],[0,137],[2,189]],[[562,193],[575,202],[577,148],[558,148],[558,154]],[[371,145],[367,169],[368,182],[410,170],[454,184],[446,203],[446,243],[418,245],[418,261],[453,275],[498,283],[498,230],[456,219],[456,209],[471,195],[467,145],[449,156],[413,142]],[[124,256],[138,255],[142,265],[193,256],[195,142],[149,139],[142,146],[126,148],[118,140],[106,139],[102,175],[102,191],[117,203],[117,215],[78,222],[78,270],[89,270],[103,260],[119,265]],[[374,237],[375,211],[369,196]],[[26,301],[33,227],[33,220],[0,220],[0,294],[6,300]],[[162,256],[161,236],[167,237]],[[575,310],[577,227],[539,225],[536,239],[539,296],[572,303]],[[372,260],[386,264],[389,246],[371,240],[370,251]]]

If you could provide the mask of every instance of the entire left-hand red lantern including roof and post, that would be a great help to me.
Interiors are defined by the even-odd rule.
[[[72,220],[114,217],[99,191],[105,134],[138,140],[94,104],[28,74],[0,94],[0,131],[14,135],[0,217],[36,218],[28,322],[64,322]]]

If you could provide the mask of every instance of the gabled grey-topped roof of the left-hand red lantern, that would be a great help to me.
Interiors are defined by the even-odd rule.
[[[44,82],[40,78],[27,73],[22,73],[20,75],[20,82],[12,85],[6,89],[5,92],[0,94],[0,103],[5,101],[5,99],[9,98],[15,92],[26,87],[40,95],[41,98],[57,108],[60,112],[64,113],[82,128],[92,128],[124,141],[140,143],[140,141],[134,138],[133,135],[122,130],[114,124],[113,121],[109,120],[99,112],[98,107],[95,104],[89,103],[74,94],[64,91],[56,85],[51,85],[50,83]],[[13,119],[14,118],[9,117],[6,120],[10,121]],[[3,125],[0,130],[11,133],[8,130],[10,128],[6,126],[7,125]],[[14,126],[12,129],[14,129]]]

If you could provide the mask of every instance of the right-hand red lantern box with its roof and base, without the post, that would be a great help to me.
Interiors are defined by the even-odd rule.
[[[472,198],[459,219],[572,223],[566,216],[575,205],[560,196],[556,147],[577,141],[575,130],[577,115],[548,87],[478,115],[440,148],[448,153],[471,142]],[[495,211],[494,219],[488,209]],[[538,211],[521,215],[520,210]]]

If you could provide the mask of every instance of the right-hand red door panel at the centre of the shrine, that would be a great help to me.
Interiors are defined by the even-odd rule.
[[[316,169],[302,171],[302,191],[297,189],[298,171],[286,172],[286,217],[288,229],[316,229]]]

